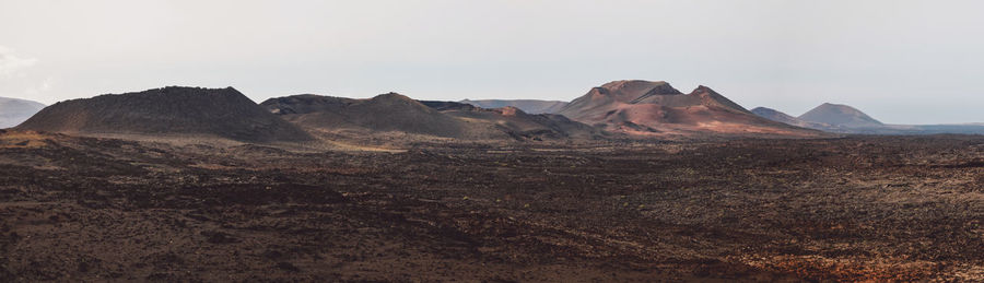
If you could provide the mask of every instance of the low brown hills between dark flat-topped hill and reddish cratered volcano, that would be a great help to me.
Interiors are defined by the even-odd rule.
[[[596,130],[559,115],[530,115],[515,107],[485,109],[454,102],[418,102],[389,93],[370,99],[319,95],[271,98],[261,104],[312,131],[365,134],[406,132],[466,140],[588,138]]]

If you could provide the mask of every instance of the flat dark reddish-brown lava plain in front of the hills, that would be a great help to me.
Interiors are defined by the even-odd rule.
[[[0,281],[984,280],[984,138],[293,153],[0,133]]]

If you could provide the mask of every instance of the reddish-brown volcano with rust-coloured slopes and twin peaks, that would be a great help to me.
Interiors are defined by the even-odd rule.
[[[683,94],[666,82],[610,82],[558,114],[630,134],[819,134],[759,117],[710,87]]]

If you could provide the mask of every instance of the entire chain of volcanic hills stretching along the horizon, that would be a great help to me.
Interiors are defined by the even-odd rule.
[[[599,139],[612,137],[827,137],[984,134],[984,123],[885,125],[842,104],[824,103],[800,117],[758,107],[749,111],[706,86],[689,94],[661,81],[613,81],[572,101],[420,102],[387,93],[367,99],[314,94],[257,105],[232,87],[168,86],[107,94],[44,107],[15,129],[83,135],[216,137],[245,142],[312,141],[309,131],[406,132],[464,140]],[[519,105],[557,114],[529,114]],[[0,118],[43,105],[0,98]],[[2,121],[2,120],[0,120]],[[15,121],[19,122],[19,121]],[[11,122],[13,125],[13,122]],[[819,131],[818,131],[819,130]],[[338,135],[328,135],[338,137]]]

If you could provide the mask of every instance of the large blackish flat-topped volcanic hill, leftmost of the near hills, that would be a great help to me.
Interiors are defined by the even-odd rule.
[[[48,106],[17,129],[81,134],[201,135],[247,142],[313,138],[238,91],[168,86]]]

